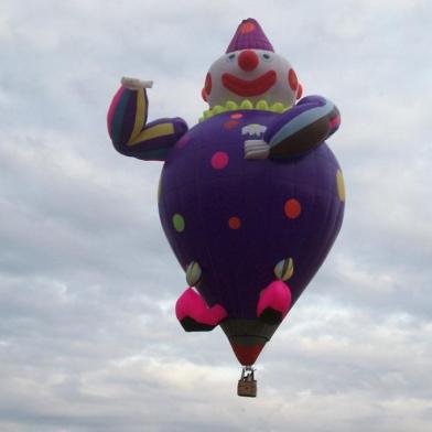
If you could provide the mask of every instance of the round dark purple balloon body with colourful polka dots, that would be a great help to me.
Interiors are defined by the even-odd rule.
[[[170,245],[184,269],[199,263],[197,290],[233,318],[257,317],[260,291],[289,257],[295,302],[343,220],[339,165],[325,142],[298,158],[245,159],[245,140],[253,137],[242,128],[274,116],[244,110],[209,118],[182,137],[162,171],[159,212]]]

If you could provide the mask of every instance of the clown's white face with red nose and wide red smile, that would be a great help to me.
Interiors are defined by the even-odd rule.
[[[212,108],[244,99],[291,106],[301,91],[287,60],[271,51],[240,50],[223,55],[210,66],[202,94]]]

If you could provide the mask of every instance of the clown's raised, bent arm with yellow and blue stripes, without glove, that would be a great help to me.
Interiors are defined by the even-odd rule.
[[[143,86],[122,85],[108,111],[108,132],[117,151],[147,161],[164,161],[171,148],[187,131],[181,118],[147,123],[149,101]]]

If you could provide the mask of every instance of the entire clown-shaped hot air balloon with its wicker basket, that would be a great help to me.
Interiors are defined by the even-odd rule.
[[[255,396],[252,365],[342,225],[343,176],[324,142],[339,112],[324,97],[301,98],[294,69],[252,19],[210,66],[209,109],[193,128],[147,122],[150,86],[122,79],[108,112],[112,143],[164,161],[159,212],[188,283],[176,316],[187,332],[222,326],[244,365],[238,392]]]

